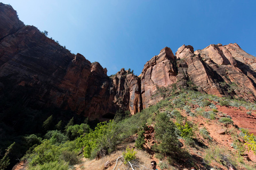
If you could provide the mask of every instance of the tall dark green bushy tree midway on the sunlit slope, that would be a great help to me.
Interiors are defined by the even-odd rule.
[[[157,115],[155,124],[156,140],[159,143],[157,149],[165,155],[179,151],[179,140],[177,134],[175,134],[175,127],[166,113],[163,112]]]

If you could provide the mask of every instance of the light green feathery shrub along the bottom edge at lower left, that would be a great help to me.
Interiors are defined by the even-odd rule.
[[[61,160],[60,162],[55,161],[51,163],[45,163],[43,165],[30,166],[29,170],[68,170],[68,163]]]

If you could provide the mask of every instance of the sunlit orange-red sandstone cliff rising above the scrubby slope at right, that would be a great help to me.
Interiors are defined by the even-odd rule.
[[[168,53],[163,53],[166,50]],[[255,101],[255,64],[256,58],[244,52],[237,44],[210,45],[195,52],[192,46],[183,45],[175,56],[170,48],[165,47],[142,70],[143,108],[162,99],[157,88],[171,88],[173,83],[178,88],[192,84],[194,89],[206,94]]]

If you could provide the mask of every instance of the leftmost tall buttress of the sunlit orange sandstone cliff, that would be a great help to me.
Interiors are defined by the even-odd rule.
[[[162,98],[156,94],[157,88],[167,87],[177,81],[177,68],[172,50],[165,47],[160,54],[151,58],[141,73],[141,96],[143,108],[157,103]],[[155,95],[155,96],[154,96]]]

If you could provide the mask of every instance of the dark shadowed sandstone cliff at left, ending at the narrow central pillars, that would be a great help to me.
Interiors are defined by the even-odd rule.
[[[2,99],[37,109],[69,109],[92,120],[119,109],[141,110],[138,77],[119,73],[119,82],[109,79],[99,63],[71,54],[37,28],[23,25],[11,6],[1,3],[0,13]]]

